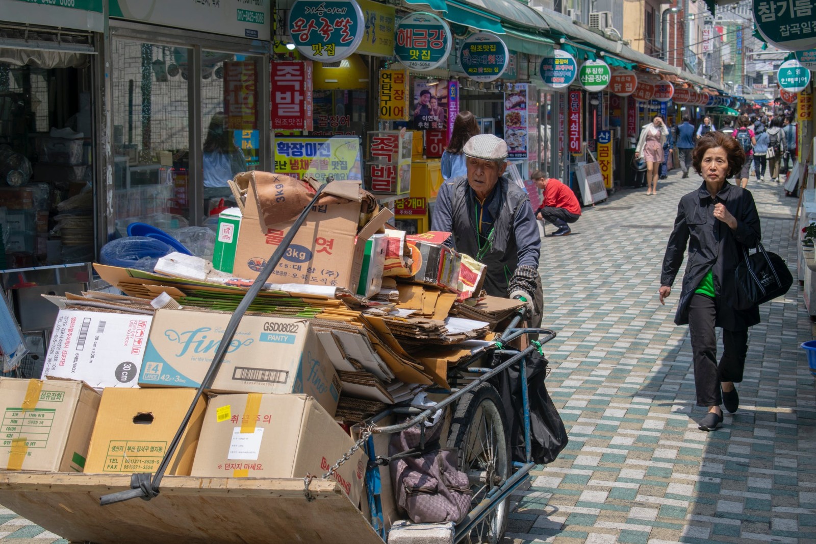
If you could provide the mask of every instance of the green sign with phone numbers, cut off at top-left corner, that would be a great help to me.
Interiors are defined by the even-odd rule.
[[[104,0],[0,0],[2,19],[15,23],[104,31]]]

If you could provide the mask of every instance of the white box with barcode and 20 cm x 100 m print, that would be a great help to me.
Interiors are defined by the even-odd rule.
[[[152,315],[60,310],[42,377],[136,387],[151,323]]]

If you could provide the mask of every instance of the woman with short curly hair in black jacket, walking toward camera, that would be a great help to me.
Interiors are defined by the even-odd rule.
[[[660,303],[665,304],[688,246],[689,263],[674,322],[689,325],[697,405],[708,408],[699,422],[701,430],[721,426],[720,404],[731,413],[737,411],[734,383],[743,381],[748,327],[760,322],[756,306],[734,310],[734,269],[743,260],[742,247],[756,247],[761,239],[751,192],[728,181],[739,175],[745,160],[731,136],[707,132],[697,140],[692,164],[703,176],[703,185],[680,200],[660,276]],[[722,328],[725,348],[719,364],[716,327]]]

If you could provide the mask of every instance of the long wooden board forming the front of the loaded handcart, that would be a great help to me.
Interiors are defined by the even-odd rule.
[[[69,542],[95,544],[383,544],[334,481],[165,476],[151,501],[100,506],[130,475],[0,470],[0,505]]]

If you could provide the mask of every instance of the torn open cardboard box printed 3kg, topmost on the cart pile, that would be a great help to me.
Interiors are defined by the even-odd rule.
[[[243,174],[236,176],[232,183],[237,198],[246,190],[246,202],[239,205],[243,217],[232,273],[239,278],[255,279],[295,221],[264,225],[253,185]],[[334,185],[335,193],[344,194],[348,200],[335,199],[340,202],[312,208],[269,277],[270,282],[328,285],[357,291],[366,249],[364,242],[393,214],[382,210],[358,233],[362,200],[371,198],[370,195],[366,197],[361,193],[357,182],[334,181],[329,185]],[[363,243],[357,243],[358,236]]]

